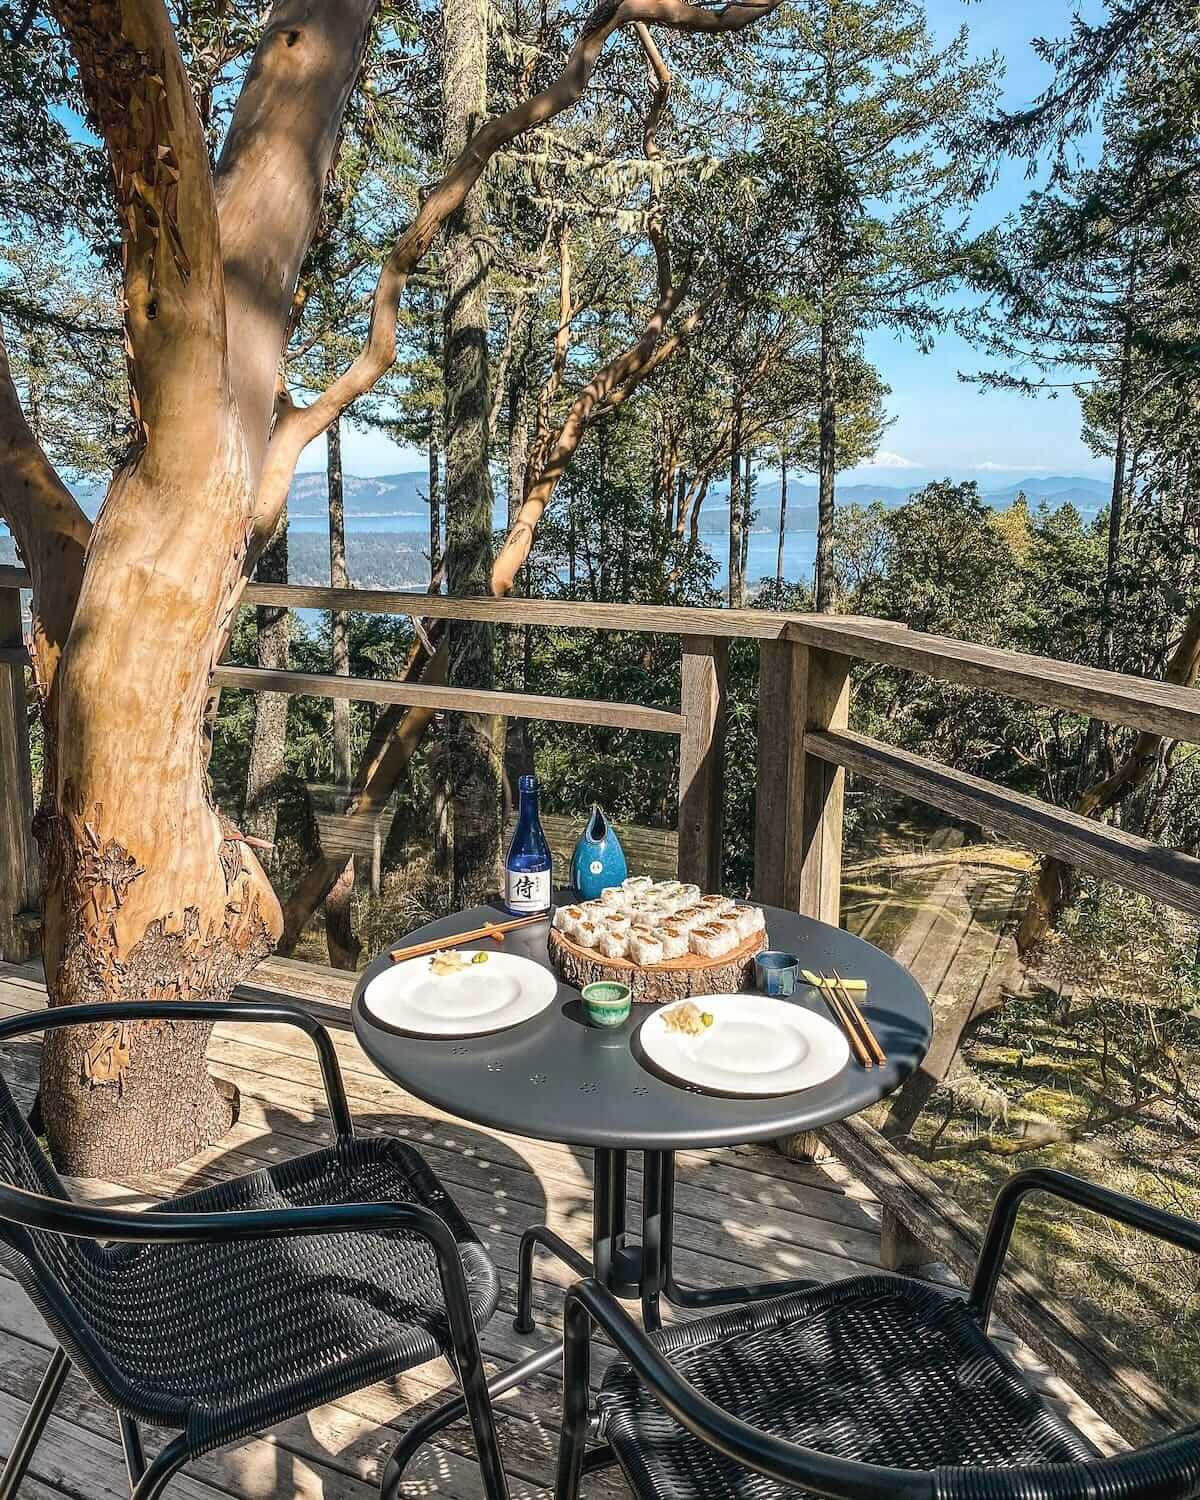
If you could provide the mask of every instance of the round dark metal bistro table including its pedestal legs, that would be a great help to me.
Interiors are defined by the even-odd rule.
[[[764,908],[772,948],[795,952],[806,969],[868,984],[862,1011],[886,1053],[886,1062],[862,1068],[850,1058],[826,1083],[771,1098],[726,1098],[705,1094],[656,1072],[645,1059],[638,1029],[652,1006],[633,1006],[622,1026],[598,1029],[584,1016],[579,994],[558,984],[550,1006],[532,1020],[482,1036],[418,1036],[372,1020],[363,990],[384,974],[392,958],[381,954],[360,976],[354,992],[354,1032],[375,1066],[393,1083],[447,1114],[564,1146],[591,1148],[592,1257],[580,1256],[546,1226],[520,1238],[518,1276],[519,1334],[532,1332],[532,1269],[537,1246],[566,1262],[576,1275],[596,1276],[621,1298],[642,1304],[648,1329],[662,1326],[660,1299],[676,1306],[711,1308],[784,1296],[808,1281],[777,1281],[740,1287],[684,1287],[672,1270],[675,1152],[700,1146],[735,1146],[816,1130],[856,1114],[897,1089],[928,1050],[933,1017],[921,986],[879,948],[840,927]],[[506,921],[498,906],[477,906],[429,922],[400,942],[446,938],[484,922]],[[522,954],[550,969],[546,952],[549,922],[507,933],[504,951]],[[474,940],[472,948],[496,944]],[[828,1014],[818,990],[806,986],[792,1002]],[[642,1238],[626,1233],[627,1160],[642,1152]],[[548,1370],[562,1353],[562,1341],[522,1359],[489,1382],[492,1396]],[[388,1482],[416,1450],[464,1414],[460,1398],[416,1422],[388,1464]],[[590,1455],[586,1467],[604,1467],[606,1450]],[[388,1491],[390,1492],[390,1491]]]

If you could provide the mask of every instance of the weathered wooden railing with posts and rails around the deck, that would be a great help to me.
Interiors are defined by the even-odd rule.
[[[36,922],[26,734],[28,657],[20,639],[16,592],[27,584],[22,570],[0,567],[0,957],[21,957],[28,924]],[[214,681],[252,692],[412,704],[676,735],[678,868],[681,876],[710,890],[720,882],[729,642],[753,639],[759,650],[753,894],[759,900],[825,921],[838,920],[843,786],[850,771],[1200,916],[1200,860],[849,729],[854,660],[885,663],[978,692],[1200,744],[1200,692],[1194,688],[849,615],[448,598],[264,584],[252,584],[244,603],[678,636],[676,710],[236,666],[218,668]],[[884,1245],[892,1264],[910,1258],[915,1244],[957,1266],[970,1258],[976,1230],[910,1160],[900,1158],[894,1146],[856,1120],[834,1126],[828,1142],[882,1200]],[[1028,1272],[1014,1278],[1000,1306],[1034,1347],[1065,1366],[1068,1378],[1118,1428],[1136,1434],[1170,1425],[1176,1418],[1170,1402],[1138,1382],[1112,1350],[1098,1354],[1095,1335],[1070,1310],[1047,1300],[1044,1288],[1030,1290],[1030,1281]]]

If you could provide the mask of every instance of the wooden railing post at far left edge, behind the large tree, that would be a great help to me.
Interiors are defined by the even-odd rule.
[[[0,646],[21,644],[21,594],[0,588]],[[38,854],[28,758],[26,669],[0,662],[0,958],[21,963],[38,948]]]

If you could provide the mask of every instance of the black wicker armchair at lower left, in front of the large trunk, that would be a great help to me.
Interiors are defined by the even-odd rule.
[[[116,1002],[3,1022],[0,1042],[164,1018],[308,1032],[336,1142],[153,1212],[92,1208],[68,1198],[0,1078],[0,1258],[58,1340],[0,1500],[16,1494],[72,1364],[117,1412],[134,1500],[156,1500],[195,1455],[440,1354],[462,1384],[488,1500],[506,1500],[477,1338],[495,1269],[411,1146],[356,1138],[322,1026],[288,1005]],[[140,1424],[176,1432],[148,1466]],[[393,1456],[386,1497],[400,1467]]]

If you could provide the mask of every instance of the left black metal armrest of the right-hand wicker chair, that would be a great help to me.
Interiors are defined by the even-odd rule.
[[[693,1437],[735,1464],[778,1484],[812,1490],[832,1500],[933,1500],[934,1476],[921,1468],[888,1468],[837,1458],[789,1443],[742,1422],[702,1395],[646,1338],[598,1281],[576,1281],[567,1292],[562,1356],[562,1432],[556,1497],[578,1496],[588,1422],[591,1324],[598,1323],[654,1400]]]

